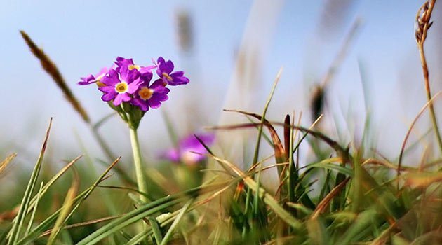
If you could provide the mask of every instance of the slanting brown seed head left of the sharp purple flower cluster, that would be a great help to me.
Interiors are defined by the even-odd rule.
[[[55,66],[54,62],[52,62],[51,59],[49,59],[48,55],[46,55],[41,48],[39,48],[34,41],[27,35],[25,31],[20,31],[20,34],[22,34],[22,38],[25,40],[27,46],[32,51],[32,53],[35,55],[37,59],[40,60],[41,66],[46,71],[46,73],[51,76],[51,78],[55,81],[55,84],[60,87],[60,90],[62,90],[63,94],[65,94],[65,97],[67,101],[74,107],[74,110],[80,114],[81,118],[86,123],[90,123],[90,119],[88,114],[86,113],[86,110],[81,106],[80,102],[72,91],[67,86],[65,79],[62,77],[60,71],[58,70],[57,66]]]

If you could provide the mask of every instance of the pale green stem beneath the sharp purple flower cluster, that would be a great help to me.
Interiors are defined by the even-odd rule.
[[[140,143],[138,142],[138,133],[135,127],[130,128],[130,144],[132,144],[133,164],[135,165],[135,175],[137,177],[138,190],[147,193],[147,181],[145,170],[142,165]],[[147,197],[140,195],[142,202],[148,202]]]

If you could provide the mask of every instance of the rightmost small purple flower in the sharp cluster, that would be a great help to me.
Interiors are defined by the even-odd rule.
[[[164,84],[170,86],[182,85],[189,83],[189,78],[184,76],[184,71],[173,71],[173,62],[167,62],[163,57],[159,57],[156,61],[156,74],[163,80]]]

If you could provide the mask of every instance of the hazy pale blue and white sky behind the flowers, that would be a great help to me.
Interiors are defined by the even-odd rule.
[[[152,58],[163,56],[185,70],[191,83],[174,87],[170,100],[161,109],[149,111],[140,126],[142,147],[154,156],[170,146],[170,141],[163,140],[168,138],[161,110],[170,113],[180,134],[187,134],[216,124],[224,106],[234,106],[227,92],[244,47],[255,48],[258,54],[253,66],[256,73],[247,81],[250,91],[240,92],[253,97],[248,109],[262,110],[274,77],[283,67],[269,117],[282,120],[292,111],[308,113],[311,87],[326,73],[351,23],[360,18],[361,29],[330,83],[328,116],[329,120],[340,118],[338,121],[351,118],[341,122],[342,127],[347,125],[349,136],[361,134],[366,116],[361,64],[379,146],[387,152],[393,150],[387,155],[394,157],[425,102],[413,34],[415,14],[423,1],[335,0],[350,6],[349,10],[335,10],[338,17],[324,14],[330,10],[328,1],[1,0],[0,111],[4,116],[0,146],[7,153],[23,153],[22,159],[35,159],[53,117],[49,146],[55,158],[71,158],[85,148],[97,150],[88,128],[29,52],[19,30],[26,31],[58,65],[93,121],[112,111],[100,101],[95,88],[80,87],[76,82],[109,66],[116,57],[149,64]],[[175,17],[180,11],[192,16],[194,48],[190,54],[182,52],[177,41]],[[435,41],[441,39],[442,25],[437,23],[441,13],[442,8],[436,8],[434,33],[428,41],[430,69],[441,64],[440,44]],[[435,77],[441,75],[436,72]],[[441,89],[440,83],[434,86]],[[201,110],[203,119],[197,125],[186,125],[183,118],[188,119],[191,114],[187,111],[193,110]],[[308,125],[309,117],[304,116],[303,122]],[[109,120],[100,132],[114,151],[128,151],[128,132],[119,118]]]

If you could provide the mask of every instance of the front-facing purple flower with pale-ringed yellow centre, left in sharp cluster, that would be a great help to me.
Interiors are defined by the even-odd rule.
[[[117,71],[118,70],[118,71]],[[101,99],[105,102],[114,100],[114,106],[119,106],[121,102],[128,102],[130,96],[140,86],[142,80],[138,79],[140,73],[137,69],[129,69],[127,64],[119,66],[118,69],[110,69],[106,76],[101,79],[102,87],[98,90],[103,92]]]

